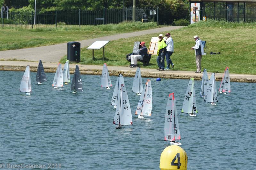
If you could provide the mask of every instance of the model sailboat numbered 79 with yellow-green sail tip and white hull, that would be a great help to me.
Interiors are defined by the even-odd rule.
[[[189,80],[181,112],[188,113],[190,116],[196,116],[194,113],[198,113],[196,107],[194,78],[190,78]]]

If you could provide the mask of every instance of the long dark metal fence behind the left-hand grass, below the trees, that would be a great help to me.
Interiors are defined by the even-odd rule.
[[[158,8],[136,8],[135,20],[158,23]],[[83,25],[99,25],[132,21],[132,7],[124,9],[103,9],[103,11],[53,11],[36,14],[34,12],[3,12],[2,27],[50,28]]]

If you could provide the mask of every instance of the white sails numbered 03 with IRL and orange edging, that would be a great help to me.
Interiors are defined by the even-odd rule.
[[[142,94],[140,96],[140,100],[138,102],[135,115],[140,116],[151,116],[152,110],[152,87],[151,81],[148,79]]]

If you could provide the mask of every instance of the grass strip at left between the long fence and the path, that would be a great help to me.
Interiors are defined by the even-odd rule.
[[[161,26],[157,26],[155,22],[123,22],[119,24],[82,26],[81,28],[67,26],[35,29],[1,28],[0,51],[86,40],[156,27]]]

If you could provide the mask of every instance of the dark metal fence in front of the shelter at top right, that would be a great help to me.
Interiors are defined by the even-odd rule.
[[[256,21],[256,9],[200,9],[200,20],[203,17],[212,20],[230,21],[230,22],[255,22]]]

